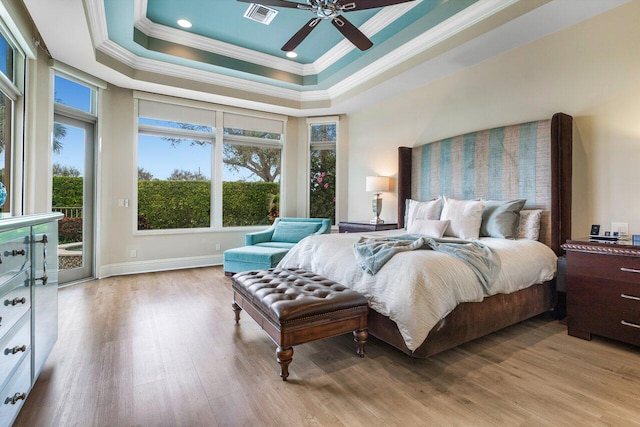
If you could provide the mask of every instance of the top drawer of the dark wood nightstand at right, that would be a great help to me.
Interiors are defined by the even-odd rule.
[[[579,274],[640,284],[640,257],[569,252],[567,265],[568,280]]]

